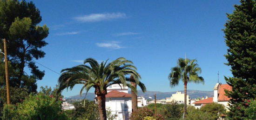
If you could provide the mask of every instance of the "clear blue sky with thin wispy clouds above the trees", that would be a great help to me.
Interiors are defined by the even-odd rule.
[[[188,89],[212,90],[224,76],[232,76],[224,54],[222,29],[238,0],[33,0],[42,22],[50,28],[42,48],[46,56],[37,62],[54,71],[73,67],[93,57],[98,61],[118,57],[132,60],[141,81],[150,91],[170,88],[168,74],[179,57],[197,59],[205,84]],[[39,65],[39,64],[38,64]],[[40,86],[54,87],[60,75],[45,70]],[[81,86],[64,96],[79,94]],[[90,92],[94,92],[93,90]]]

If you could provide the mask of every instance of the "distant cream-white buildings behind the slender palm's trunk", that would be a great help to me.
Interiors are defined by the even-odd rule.
[[[177,104],[184,104],[184,94],[182,92],[176,92],[175,94],[172,94],[171,97],[166,98],[166,103],[171,103],[171,101],[176,101]],[[190,98],[189,95],[187,95],[187,105],[190,104]]]

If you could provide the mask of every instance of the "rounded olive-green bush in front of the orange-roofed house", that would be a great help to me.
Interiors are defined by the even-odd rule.
[[[226,114],[225,106],[218,103],[206,104],[200,108],[204,113],[209,113],[213,116],[213,119],[218,119],[221,114]]]

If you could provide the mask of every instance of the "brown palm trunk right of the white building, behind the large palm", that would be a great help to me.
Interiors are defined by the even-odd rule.
[[[134,77],[130,76],[130,80],[131,80],[131,85],[133,87],[135,87],[135,89],[136,89],[137,84],[134,81]],[[138,98],[137,98],[137,95],[135,94],[135,92],[132,90],[131,90],[131,94],[132,94],[132,112],[135,112],[138,110]]]

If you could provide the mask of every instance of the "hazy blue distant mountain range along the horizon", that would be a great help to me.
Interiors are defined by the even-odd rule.
[[[184,91],[181,91],[184,93]],[[129,91],[130,93],[130,91]],[[146,99],[149,99],[148,97],[154,98],[154,94],[156,94],[157,99],[165,99],[166,97],[171,97],[172,94],[175,94],[176,92],[159,92],[159,91],[147,91],[143,93],[141,90],[138,90],[138,96],[143,96]],[[198,97],[213,97],[213,91],[201,91],[201,90],[187,90],[187,94],[189,95],[190,98],[195,99]],[[88,100],[94,100],[94,93],[88,93],[86,96],[86,99]],[[80,95],[74,95],[70,97],[66,97],[65,99],[84,99],[85,98],[85,93],[83,93],[81,96]]]

